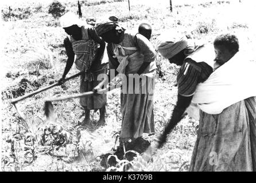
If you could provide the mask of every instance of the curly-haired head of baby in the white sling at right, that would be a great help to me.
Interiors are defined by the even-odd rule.
[[[238,38],[232,34],[221,34],[214,40],[215,61],[219,66],[230,60],[238,51]]]

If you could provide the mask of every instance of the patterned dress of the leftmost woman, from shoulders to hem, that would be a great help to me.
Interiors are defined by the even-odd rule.
[[[94,29],[94,27],[87,25],[82,26],[82,40],[76,41],[72,37],[68,37],[64,40],[72,43],[73,53],[75,53],[75,65],[78,70],[84,71],[84,74],[80,77],[80,93],[92,91],[100,81],[97,81],[99,74],[106,74],[107,67],[102,66],[102,57],[94,63],[94,68],[91,68],[92,59],[95,56],[96,49],[99,46],[94,40],[88,35],[88,29]],[[68,54],[68,51],[67,51]],[[94,96],[86,96],[80,98],[80,105],[89,110],[100,109],[106,105],[107,97],[106,94],[98,94]]]

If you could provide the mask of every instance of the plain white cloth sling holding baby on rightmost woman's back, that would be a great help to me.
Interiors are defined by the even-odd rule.
[[[192,102],[208,114],[220,114],[223,109],[256,96],[256,62],[236,53],[228,62],[200,83]]]

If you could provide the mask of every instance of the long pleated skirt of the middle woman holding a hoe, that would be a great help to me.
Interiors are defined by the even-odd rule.
[[[126,142],[141,137],[143,133],[154,133],[154,79],[156,71],[146,74],[146,85],[141,81],[139,86],[133,87],[133,94],[121,90],[121,112],[122,112],[122,129],[120,142]],[[146,90],[143,90],[145,89]],[[139,88],[139,92],[136,92]]]

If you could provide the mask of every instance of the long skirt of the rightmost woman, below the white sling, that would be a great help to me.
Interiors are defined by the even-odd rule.
[[[200,112],[189,171],[256,170],[256,99],[237,102],[220,114]]]

